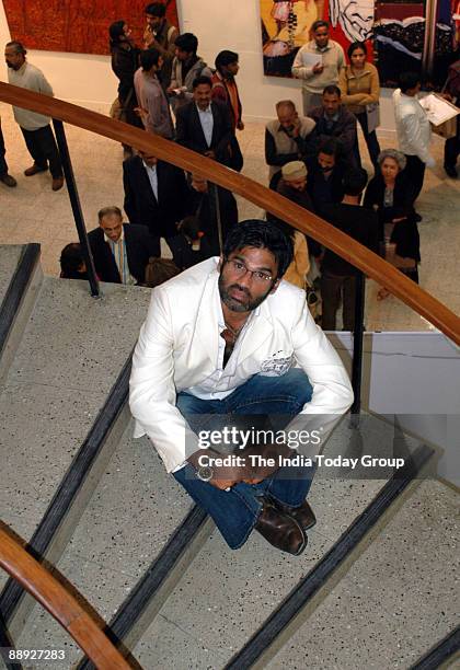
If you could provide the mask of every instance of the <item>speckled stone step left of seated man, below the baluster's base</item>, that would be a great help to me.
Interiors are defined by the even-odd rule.
[[[0,392],[1,518],[30,540],[137,340],[150,290],[46,277]],[[3,575],[1,579],[4,580]]]

